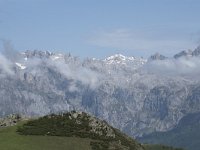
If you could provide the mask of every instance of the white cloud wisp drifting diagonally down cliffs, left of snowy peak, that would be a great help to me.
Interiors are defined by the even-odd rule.
[[[78,90],[77,82],[81,82],[83,85],[87,85],[91,89],[95,89],[99,85],[101,76],[91,69],[83,67],[79,63],[68,64],[62,60],[53,61],[51,59],[41,60],[36,58],[29,58],[28,61],[25,62],[25,66],[27,66],[28,71],[31,72],[34,76],[44,75],[45,72],[41,68],[43,64],[53,68],[56,72],[61,73],[68,80],[71,80],[71,83],[69,85],[70,91]]]

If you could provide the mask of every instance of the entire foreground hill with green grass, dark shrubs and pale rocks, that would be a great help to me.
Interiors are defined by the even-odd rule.
[[[0,149],[176,150],[160,145],[141,145],[104,121],[75,112],[49,115],[0,128]]]

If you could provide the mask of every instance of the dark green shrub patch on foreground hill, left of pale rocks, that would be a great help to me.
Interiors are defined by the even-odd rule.
[[[67,136],[92,139],[105,139],[104,135],[90,132],[89,117],[87,114],[78,114],[76,118],[71,113],[60,115],[51,114],[39,119],[30,120],[20,126],[17,130],[22,135],[48,135]]]

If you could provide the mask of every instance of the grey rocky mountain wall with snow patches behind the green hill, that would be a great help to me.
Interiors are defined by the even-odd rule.
[[[26,51],[9,62],[9,72],[0,68],[0,115],[82,110],[131,136],[169,130],[199,111],[199,79],[163,74],[162,66],[154,72],[149,63],[119,54],[81,61],[70,54]]]

